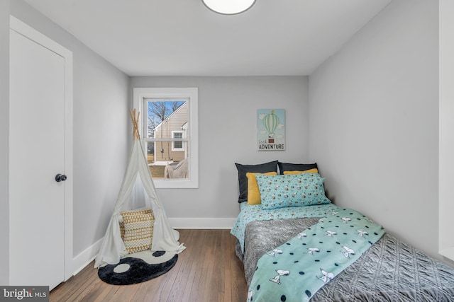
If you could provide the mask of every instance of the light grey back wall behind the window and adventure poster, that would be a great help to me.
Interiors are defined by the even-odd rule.
[[[158,189],[174,226],[175,221],[201,226],[206,219],[206,226],[230,223],[231,227],[239,212],[234,163],[306,162],[308,158],[306,76],[133,77],[130,87],[130,91],[135,87],[199,88],[199,188]],[[285,109],[286,151],[255,147],[257,110],[266,108]]]

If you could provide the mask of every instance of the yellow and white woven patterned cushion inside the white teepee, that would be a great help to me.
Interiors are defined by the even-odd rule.
[[[151,248],[153,238],[153,226],[155,217],[150,209],[141,211],[124,211],[120,213],[123,217],[123,227],[120,223],[120,231],[123,228],[123,242],[129,254],[148,250]]]

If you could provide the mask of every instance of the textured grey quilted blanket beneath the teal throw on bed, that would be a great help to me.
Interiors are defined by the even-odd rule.
[[[245,231],[245,253],[237,244],[248,285],[265,252],[319,219],[254,221]],[[353,265],[323,286],[311,301],[454,301],[454,269],[385,234]]]

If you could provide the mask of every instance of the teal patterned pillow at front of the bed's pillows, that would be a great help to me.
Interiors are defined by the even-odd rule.
[[[304,207],[329,204],[323,180],[318,173],[291,175],[255,175],[263,209]]]

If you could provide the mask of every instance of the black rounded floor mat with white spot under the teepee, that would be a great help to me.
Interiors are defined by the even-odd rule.
[[[155,252],[165,253],[163,251]],[[143,281],[148,281],[155,277],[158,277],[166,272],[169,272],[175,263],[177,263],[178,254],[172,257],[172,259],[150,265],[140,258],[126,257],[120,260],[116,265],[106,265],[104,267],[99,267],[98,276],[99,278],[109,284],[114,285],[126,285],[126,284],[136,284]],[[128,267],[125,272],[115,272],[114,269],[121,265],[121,267]]]

